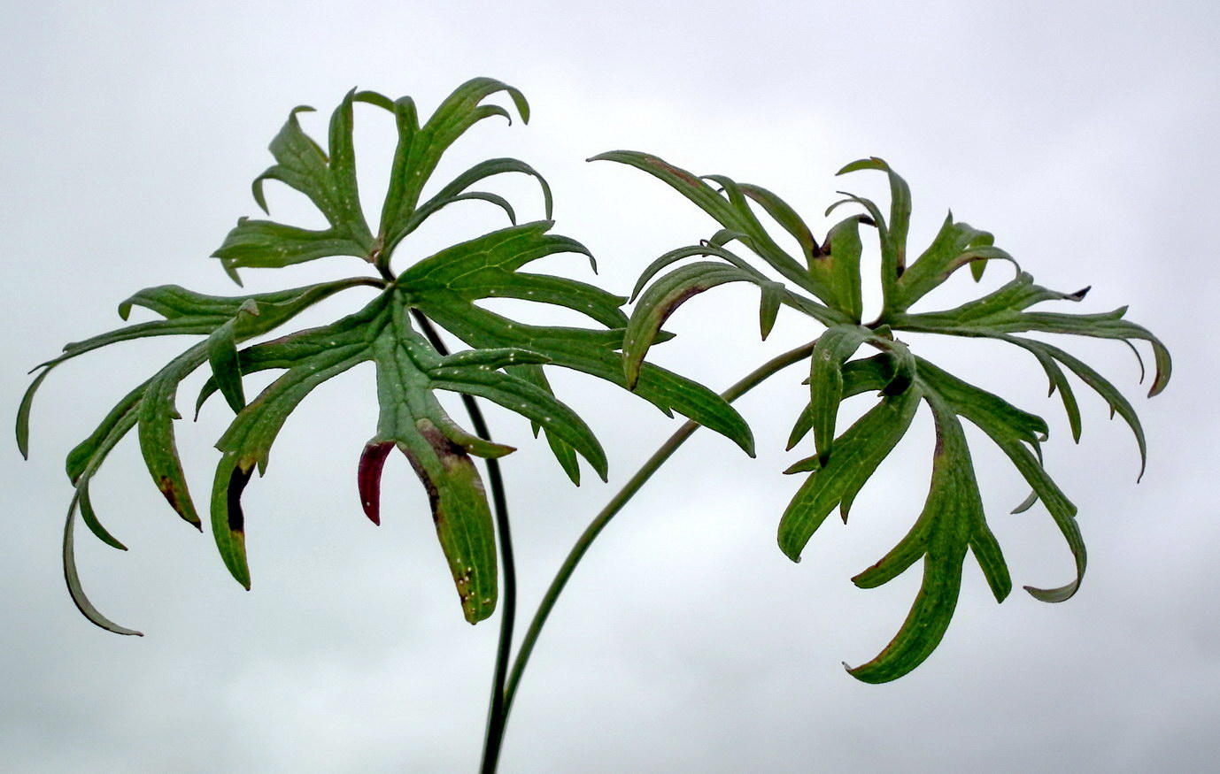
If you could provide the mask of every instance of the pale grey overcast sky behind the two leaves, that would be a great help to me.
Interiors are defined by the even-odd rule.
[[[826,523],[799,566],[775,545],[798,480],[780,472],[802,405],[794,368],[741,401],[759,441],[747,460],[700,433],[604,534],[561,600],[515,707],[503,770],[1148,772],[1215,765],[1220,609],[1213,399],[1220,23],[1210,2],[17,2],[0,17],[0,177],[6,282],[4,412],[26,369],[116,327],[116,304],[166,283],[233,293],[209,254],[295,105],[325,133],[353,85],[431,110],[473,76],[522,89],[534,117],[484,122],[443,168],[518,156],[555,190],[556,232],[598,256],[625,293],[661,252],[711,221],[637,171],[584,158],[648,150],[700,174],[765,185],[815,232],[834,190],[883,195],[888,160],[914,190],[913,245],[954,215],[997,234],[1039,283],[1093,285],[1074,311],[1130,305],[1176,357],[1143,399],[1126,347],[1069,343],[1139,411],[1143,481],[1121,422],[1081,388],[1078,446],[1036,362],[974,341],[911,336],[916,351],[1048,418],[1052,474],[1080,508],[1089,572],[1080,594],[994,603],[972,559],[939,650],[915,673],[863,685],[905,616],[919,573],[878,590],[849,578],[880,558],[922,505],[926,412],[865,489],[849,525]],[[388,121],[357,108],[365,202],[376,215]],[[325,134],[323,134],[325,135]],[[439,174],[438,179],[448,179]],[[317,216],[284,190],[272,215]],[[536,188],[501,193],[542,217]],[[438,218],[399,266],[499,228],[477,202]],[[296,218],[293,221],[292,218]],[[592,279],[587,265],[545,267]],[[248,271],[270,290],[360,272],[354,258]],[[992,272],[989,282],[1000,282]],[[947,288],[971,291],[963,282]],[[334,300],[303,324],[350,311]],[[781,314],[755,329],[756,293],[721,288],[676,314],[658,358],[722,389],[817,330]],[[539,318],[540,319],[540,318]],[[461,618],[426,499],[387,468],[384,525],[360,512],[355,463],[376,424],[371,368],[323,386],[285,425],[246,494],[253,591],[211,538],[183,524],[139,462],[112,455],[93,500],[131,551],[79,530],[94,602],[143,639],[94,628],[59,564],[71,496],[62,458],[178,340],[67,364],[33,414],[32,458],[2,460],[0,750],[15,772],[468,772],[478,759],[494,620]],[[709,355],[710,353],[710,355]],[[203,375],[181,390],[189,403]],[[560,397],[611,461],[572,488],[518,418],[493,411],[512,500],[522,616],[575,536],[676,427],[582,375]],[[183,408],[183,413],[188,413]],[[214,401],[178,423],[196,501],[224,427]],[[1071,562],[1049,516],[1008,511],[1026,490],[971,435],[993,529],[1017,585],[1058,585]],[[808,453],[808,452],[805,452]]]

